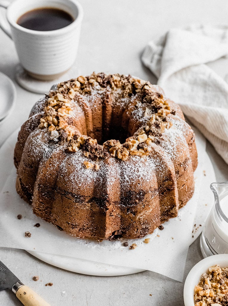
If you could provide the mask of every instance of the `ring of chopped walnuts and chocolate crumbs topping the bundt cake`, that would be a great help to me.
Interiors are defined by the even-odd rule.
[[[77,100],[79,95],[90,95],[94,88],[98,90],[110,88],[113,91],[121,88],[123,98],[140,92],[138,103],[145,103],[143,110],[148,122],[124,144],[120,144],[118,140],[108,140],[101,146],[91,137],[76,136],[72,116],[75,107],[73,99]],[[110,154],[123,161],[131,155],[140,157],[149,155],[153,142],[165,132],[165,129],[172,126],[168,115],[175,113],[163,95],[153,91],[153,86],[149,82],[119,74],[92,73],[90,76],[79,76],[77,79],[62,82],[57,85],[56,91],[50,91],[46,102],[39,128],[47,129],[50,133],[59,133],[58,137],[60,136],[61,140],[69,142],[66,151],[77,152],[80,149],[86,157],[97,158]],[[95,167],[94,169],[97,170]]]

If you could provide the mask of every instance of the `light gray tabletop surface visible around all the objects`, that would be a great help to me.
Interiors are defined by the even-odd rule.
[[[192,23],[227,23],[228,2],[225,0],[81,0],[80,3],[84,9],[84,19],[75,65],[84,75],[93,71],[130,73],[155,83],[156,78],[140,61],[142,50],[150,39],[172,27]],[[13,42],[0,30],[0,71],[15,84],[14,69],[17,63]],[[227,59],[222,58],[208,65],[227,78]],[[17,84],[16,87],[16,106],[8,120],[0,125],[0,145],[28,118],[31,107],[40,97]],[[207,151],[217,181],[227,181],[227,164],[210,144]],[[198,238],[189,248],[184,278],[202,258]],[[8,248],[0,248],[0,259],[51,305],[183,305],[184,284],[153,272],[108,278],[87,276],[52,267],[23,250]],[[38,282],[32,280],[34,275],[39,275]],[[47,282],[53,282],[53,286],[45,287]],[[65,294],[62,293],[64,291]],[[12,292],[5,290],[0,292],[0,305],[21,304]]]

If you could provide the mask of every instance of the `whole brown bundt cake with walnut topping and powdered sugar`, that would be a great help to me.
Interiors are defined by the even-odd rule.
[[[143,237],[192,197],[194,133],[161,88],[93,73],[32,108],[14,154],[34,213],[82,238]]]

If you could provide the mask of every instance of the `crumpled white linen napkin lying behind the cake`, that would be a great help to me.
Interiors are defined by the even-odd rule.
[[[142,62],[228,163],[228,84],[205,65],[226,54],[227,26],[192,26],[150,41]]]

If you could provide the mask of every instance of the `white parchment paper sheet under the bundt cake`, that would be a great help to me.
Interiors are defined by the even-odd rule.
[[[144,238],[120,241],[92,241],[79,239],[36,217],[28,203],[20,199],[15,190],[16,169],[13,165],[13,149],[17,139],[14,132],[0,149],[1,183],[5,181],[0,194],[0,246],[71,256],[100,263],[134,267],[154,271],[178,281],[183,279],[183,271],[189,245],[199,235],[203,220],[213,204],[209,185],[204,186],[205,139],[195,130],[199,165],[195,171],[195,192],[192,199],[183,207],[178,217],[165,222],[164,230],[156,229]],[[213,174],[214,175],[214,174]],[[212,177],[213,177],[212,175]],[[195,212],[203,210],[201,226],[194,224]],[[22,219],[17,219],[21,214]],[[197,213],[198,216],[198,213]],[[199,222],[199,218],[197,218]],[[37,228],[34,225],[40,223]],[[29,231],[31,237],[25,237]],[[148,244],[143,241],[150,238]],[[130,250],[124,247],[137,244]]]

